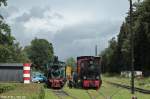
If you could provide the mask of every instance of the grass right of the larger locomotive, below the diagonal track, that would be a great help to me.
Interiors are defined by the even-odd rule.
[[[111,99],[131,99],[132,94],[130,90],[123,89],[120,87],[115,87],[113,85],[110,85],[108,83],[103,82],[103,85],[98,91],[101,96],[103,96],[102,99],[106,99],[106,97],[111,97]],[[138,97],[138,99],[150,99],[150,95],[142,94],[142,93],[135,93],[135,96]],[[97,98],[101,99],[101,98]]]

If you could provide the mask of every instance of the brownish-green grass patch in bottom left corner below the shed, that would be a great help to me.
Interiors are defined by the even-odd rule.
[[[18,83],[14,90],[0,94],[0,97],[21,97],[25,99],[44,99],[45,90],[40,84],[21,84]],[[7,99],[6,98],[6,99]]]

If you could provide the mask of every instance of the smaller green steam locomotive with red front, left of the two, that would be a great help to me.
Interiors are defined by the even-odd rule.
[[[65,75],[65,63],[59,61],[58,57],[55,57],[48,69],[48,87],[62,88],[66,81]]]

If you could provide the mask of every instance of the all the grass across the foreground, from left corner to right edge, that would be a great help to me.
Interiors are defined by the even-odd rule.
[[[103,77],[103,79],[114,80],[114,78],[111,77],[108,78]],[[114,81],[116,81],[116,78]],[[19,99],[59,99],[59,97],[52,92],[52,89],[47,88],[44,89],[43,86],[44,86],[43,84],[18,83],[16,84],[16,87],[14,89],[0,94],[0,98],[1,96],[13,96],[16,97],[13,99],[18,99],[17,96],[20,96],[25,98]],[[87,90],[76,88],[70,89],[67,86],[64,86],[63,90],[67,92],[69,95],[76,97],[77,99],[90,99]],[[131,99],[132,97],[130,90],[110,85],[105,81],[103,81],[103,84],[99,90],[90,89],[88,90],[88,92],[92,96],[96,97],[95,99]],[[137,96],[138,99],[150,99],[150,95],[141,94],[138,92],[135,93],[135,96]],[[12,98],[4,98],[4,99],[12,99]],[[72,98],[69,96],[64,96],[62,99],[72,99]]]

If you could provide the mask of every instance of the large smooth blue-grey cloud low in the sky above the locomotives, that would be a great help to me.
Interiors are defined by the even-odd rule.
[[[55,51],[61,59],[94,55],[94,46],[99,46],[99,52],[106,48],[108,40],[118,34],[120,24],[121,21],[108,20],[65,28],[55,35]]]

